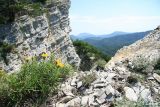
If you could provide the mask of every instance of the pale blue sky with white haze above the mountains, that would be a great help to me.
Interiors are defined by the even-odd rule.
[[[160,0],[71,0],[71,34],[140,32],[160,25]]]

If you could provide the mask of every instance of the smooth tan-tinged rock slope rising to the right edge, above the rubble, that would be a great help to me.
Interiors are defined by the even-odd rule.
[[[147,72],[153,71],[153,66],[160,58],[160,29],[157,27],[143,39],[130,46],[124,46],[106,65],[107,69],[125,72],[127,68],[146,67]],[[127,66],[127,68],[126,68]],[[122,70],[123,69],[123,70]]]

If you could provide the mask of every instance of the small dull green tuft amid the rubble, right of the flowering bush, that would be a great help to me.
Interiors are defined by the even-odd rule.
[[[91,85],[92,82],[94,82],[97,79],[96,74],[92,73],[86,76],[83,76],[80,78],[80,80],[83,83],[83,86],[86,88],[89,88],[89,86]]]

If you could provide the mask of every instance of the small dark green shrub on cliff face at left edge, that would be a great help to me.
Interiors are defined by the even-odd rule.
[[[10,53],[14,49],[14,45],[10,45],[5,42],[0,42],[0,59],[4,60],[6,64],[8,64],[8,60],[6,58],[7,54]]]

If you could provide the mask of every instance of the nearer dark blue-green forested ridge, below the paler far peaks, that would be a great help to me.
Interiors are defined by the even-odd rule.
[[[135,41],[142,39],[145,37],[150,31],[147,32],[139,32],[139,33],[131,33],[118,35],[110,38],[99,39],[97,38],[87,38],[83,41],[95,46],[100,49],[102,52],[113,56],[117,50],[122,48],[123,46],[128,46]]]

